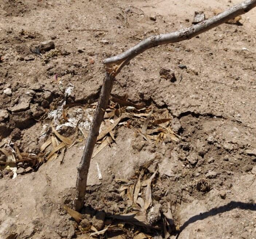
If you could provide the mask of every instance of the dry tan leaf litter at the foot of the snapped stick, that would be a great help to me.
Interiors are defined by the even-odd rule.
[[[175,238],[178,228],[174,224],[172,208],[168,203],[166,212],[161,211],[159,203],[153,205],[152,187],[156,182],[158,171],[148,176],[145,174],[146,167],[151,162],[141,166],[136,179],[115,179],[119,184],[119,197],[127,201],[125,213],[110,214],[104,210],[96,211],[93,208],[84,210],[84,214],[73,210],[67,205],[64,209],[75,220],[74,228],[77,235],[92,238],[135,238],[150,239]]]

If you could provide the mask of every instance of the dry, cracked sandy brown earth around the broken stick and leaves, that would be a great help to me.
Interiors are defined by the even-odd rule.
[[[63,151],[62,164],[60,153],[46,161],[40,146],[52,135],[49,126],[82,117],[86,134],[103,81],[103,59],[145,37],[190,26],[194,11],[209,18],[214,9],[238,2],[0,0],[1,149],[18,159],[18,147],[21,154],[34,155],[33,162],[44,161],[17,163],[14,179],[1,164],[0,238],[12,233],[17,238],[89,238],[63,209],[74,198],[83,134],[61,127],[60,134],[76,143]],[[143,124],[136,117],[115,127],[115,142],[92,159],[82,213],[95,226],[102,221],[94,215],[103,211],[107,216],[98,228],[113,225],[111,215],[136,210],[126,195],[120,196],[125,182],[117,179],[137,182],[157,170],[147,211],[154,229],[124,223],[99,238],[134,238],[138,231],[164,237],[168,202],[176,238],[256,238],[255,36],[253,9],[240,24],[150,49],[117,76],[113,97],[128,94],[130,102],[145,105],[144,113],[154,107],[155,117],[168,114],[170,128],[182,140],[147,142],[136,133]],[[174,71],[175,79],[160,76],[163,68]],[[58,85],[70,94],[65,97]],[[50,114],[63,102],[66,115],[54,120]],[[0,161],[7,160],[1,153]]]

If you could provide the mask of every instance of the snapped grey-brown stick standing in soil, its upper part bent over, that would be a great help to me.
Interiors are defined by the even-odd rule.
[[[107,58],[103,61],[106,66],[105,78],[103,81],[101,94],[99,96],[98,105],[91,123],[90,132],[83,151],[83,156],[78,167],[78,176],[76,179],[76,195],[74,199],[74,209],[80,211],[83,207],[84,196],[86,192],[87,175],[90,167],[92,152],[99,135],[99,127],[103,120],[105,110],[109,101],[110,93],[113,87],[115,76],[121,71],[123,66],[129,63],[135,56],[145,50],[163,44],[179,42],[191,39],[203,32],[208,31],[222,23],[247,13],[256,7],[256,0],[245,0],[240,4],[234,5],[228,10],[196,25],[184,28],[172,33],[151,36],[142,40],[137,45],[131,47],[126,52],[114,57]]]

